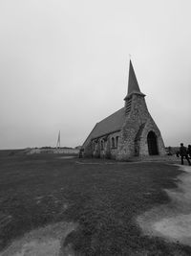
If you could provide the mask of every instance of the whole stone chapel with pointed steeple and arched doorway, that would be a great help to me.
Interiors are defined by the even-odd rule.
[[[164,143],[151,117],[130,60],[124,106],[96,123],[82,151],[87,157],[128,160],[135,156],[164,155]]]

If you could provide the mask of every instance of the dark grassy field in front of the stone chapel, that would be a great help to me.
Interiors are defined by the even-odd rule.
[[[143,236],[135,221],[169,200],[162,189],[175,187],[175,166],[60,156],[0,154],[0,250],[36,227],[74,221],[64,245],[76,255],[191,255]]]

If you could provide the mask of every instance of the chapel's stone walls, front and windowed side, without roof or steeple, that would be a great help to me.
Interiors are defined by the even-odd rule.
[[[128,160],[134,156],[149,155],[147,136],[153,131],[157,136],[159,155],[165,154],[159,128],[152,119],[141,93],[125,98],[126,118],[120,131],[91,140],[84,156]]]

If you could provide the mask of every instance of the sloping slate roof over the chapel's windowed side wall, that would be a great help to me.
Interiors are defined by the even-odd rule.
[[[90,142],[90,140],[92,139],[120,130],[122,128],[124,121],[125,121],[125,108],[122,107],[119,110],[117,110],[117,112],[115,112],[114,114],[96,123],[95,128],[93,128],[90,135],[84,142],[83,148],[86,147]]]

